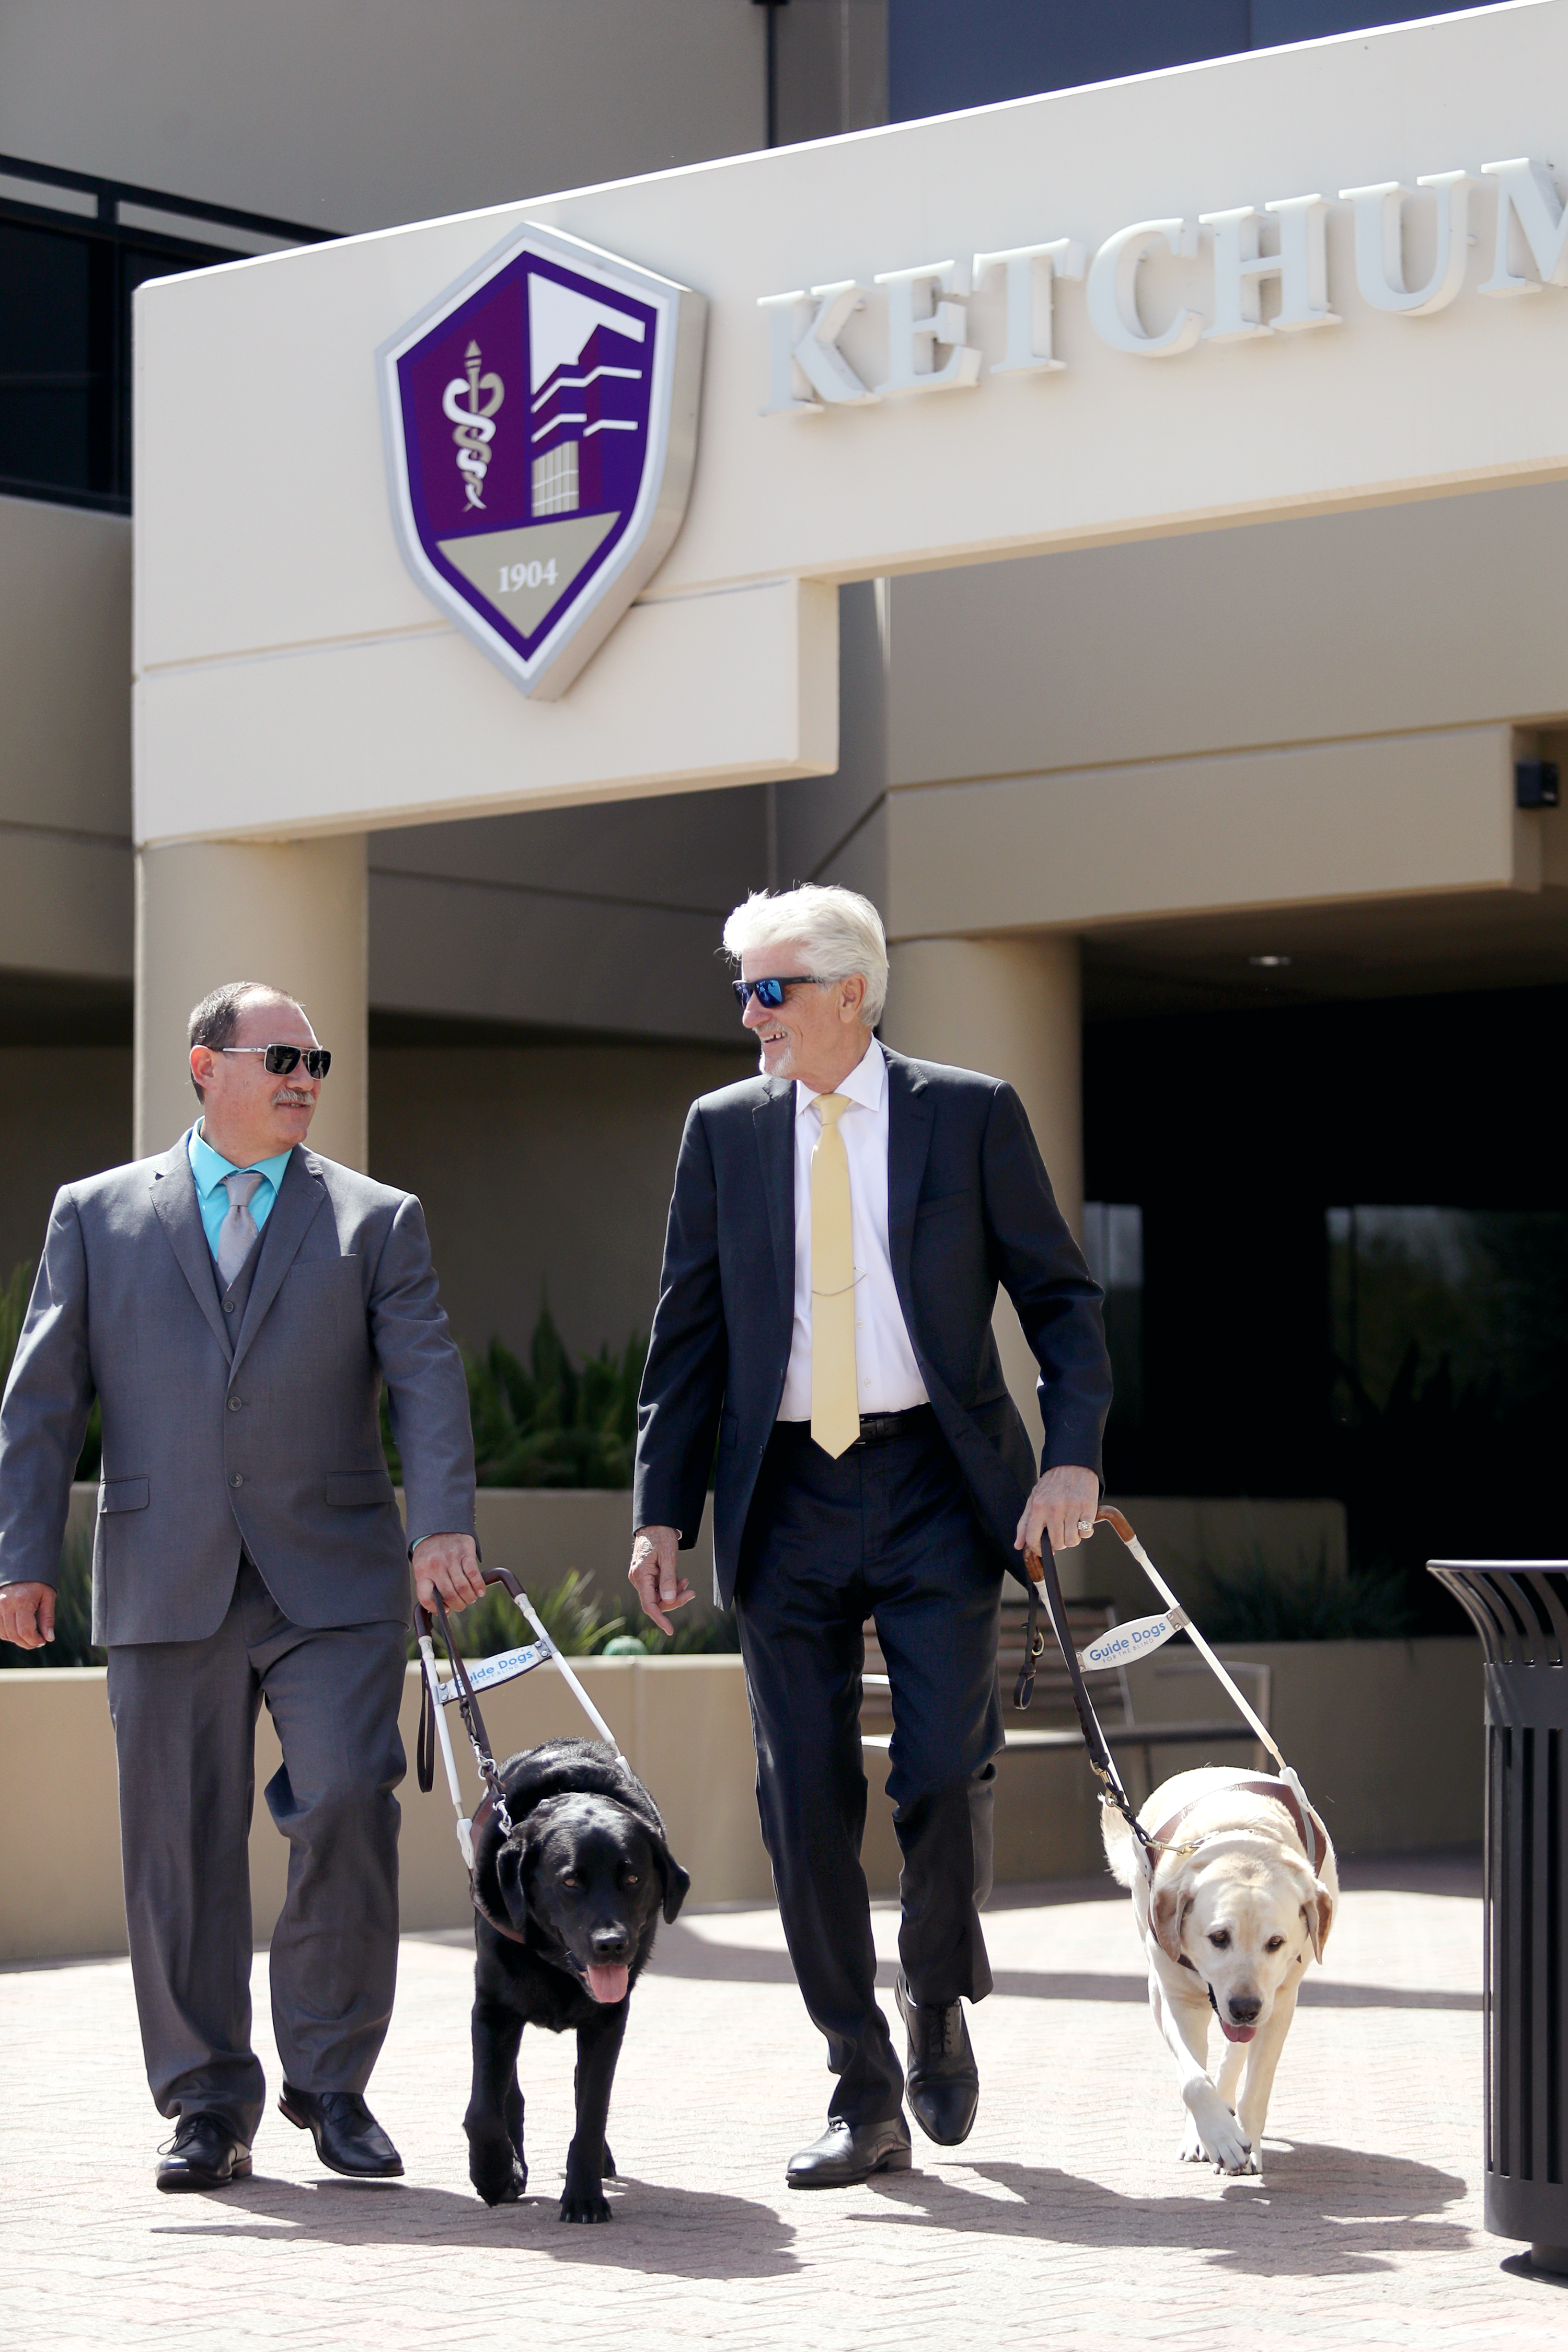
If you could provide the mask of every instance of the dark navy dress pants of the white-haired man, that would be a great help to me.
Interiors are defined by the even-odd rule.
[[[912,1435],[839,1461],[778,1423],[748,1517],[736,1616],[757,1740],[757,1809],[806,2009],[839,2077],[830,2114],[898,2114],[903,2067],[877,2006],[860,1867],[865,1618],[893,1689],[889,1795],[903,1851],[898,1957],[917,2002],[990,1992],[978,1905],[992,1875],[1001,1748],[1001,1564],[957,1463]]]

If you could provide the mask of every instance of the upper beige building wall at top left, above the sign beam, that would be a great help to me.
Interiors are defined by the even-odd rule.
[[[0,9],[0,148],[320,228],[421,221],[762,139],[762,16],[729,0]]]

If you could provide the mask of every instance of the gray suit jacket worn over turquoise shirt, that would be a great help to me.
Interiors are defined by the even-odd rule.
[[[299,1625],[407,1621],[407,1548],[475,1524],[468,1383],[418,1202],[296,1145],[233,1319],[183,1136],[59,1192],[0,1406],[0,1583],[54,1583],[96,1395],[94,1642],[205,1639],[242,1541]]]

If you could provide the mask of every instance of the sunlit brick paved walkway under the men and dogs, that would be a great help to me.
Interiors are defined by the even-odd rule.
[[[456,1867],[456,1865],[454,1865]],[[917,2171],[783,2187],[827,2103],[771,1912],[663,1933],[632,1999],[609,2227],[555,2218],[571,2046],[524,2037],[531,2194],[465,2178],[470,1957],[409,1938],[374,2105],[409,2178],[322,2176],[268,2114],[256,2178],[153,2192],[162,2126],[125,1962],[0,1976],[0,2343],[355,2352],[726,2345],[1535,2347],[1568,2293],[1502,2267],[1479,2173],[1479,1903],[1458,1865],[1347,1872],[1331,1966],[1279,2072],[1267,2178],[1180,2169],[1173,2070],[1143,2006],[1126,1898],[1056,1889],[987,1922],[980,2119]],[[1039,1893],[1039,1891],[1037,1891]],[[1063,1900],[1063,1896],[1070,1896]],[[879,1915],[879,1945],[896,1922]],[[884,1969],[891,1983],[891,1969]],[[263,1992],[266,1964],[256,1964]],[[270,2037],[261,2034],[275,2082]]]

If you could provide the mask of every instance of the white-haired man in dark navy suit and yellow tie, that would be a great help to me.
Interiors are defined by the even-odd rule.
[[[893,1689],[907,2096],[969,2136],[961,2002],[990,1992],[997,1621],[1025,1543],[1074,1545],[1100,1496],[1110,1364],[1088,1277],[1011,1087],[872,1035],[870,901],[804,887],[729,917],[762,1075],[691,1105],[642,1383],[630,1578],[656,1625],[691,1599],[715,1463],[715,1588],[733,1599],[757,1804],[790,1959],[839,2077],[792,2187],[910,2164],[860,1870],[863,1623]],[[992,1341],[997,1282],[1034,1357],[1041,1470]]]

